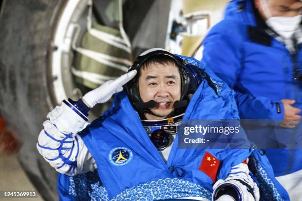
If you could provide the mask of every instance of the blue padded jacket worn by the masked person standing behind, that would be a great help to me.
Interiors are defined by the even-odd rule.
[[[302,44],[294,59],[282,42],[264,32],[253,0],[229,2],[225,19],[210,30],[203,45],[202,62],[235,90],[241,119],[281,120],[281,99],[294,99],[293,106],[302,109],[302,81],[293,80],[294,65],[302,69]],[[302,168],[301,150],[267,149],[266,155],[276,176]]]

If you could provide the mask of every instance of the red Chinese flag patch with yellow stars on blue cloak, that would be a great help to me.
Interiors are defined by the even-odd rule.
[[[220,161],[209,152],[205,152],[199,170],[207,174],[215,183]]]

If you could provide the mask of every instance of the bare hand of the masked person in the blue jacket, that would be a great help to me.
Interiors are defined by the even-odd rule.
[[[298,115],[301,110],[297,107],[292,106],[292,104],[294,104],[296,100],[282,99],[281,102],[283,103],[284,107],[284,119],[280,126],[290,129],[295,128],[299,124],[301,119],[301,115]]]

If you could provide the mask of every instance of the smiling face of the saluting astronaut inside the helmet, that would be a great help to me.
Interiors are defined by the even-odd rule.
[[[173,63],[151,63],[148,67],[140,69],[138,86],[144,102],[156,102],[156,106],[150,108],[156,116],[146,113],[146,118],[164,119],[173,111],[174,102],[180,100],[181,75]]]

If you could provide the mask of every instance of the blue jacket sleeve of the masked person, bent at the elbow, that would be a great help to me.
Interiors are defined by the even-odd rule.
[[[241,119],[283,119],[284,108],[280,101],[255,97],[248,90],[242,90],[243,86],[236,85],[245,62],[244,32],[246,26],[233,20],[225,19],[214,26],[203,41],[202,62],[234,89]]]

